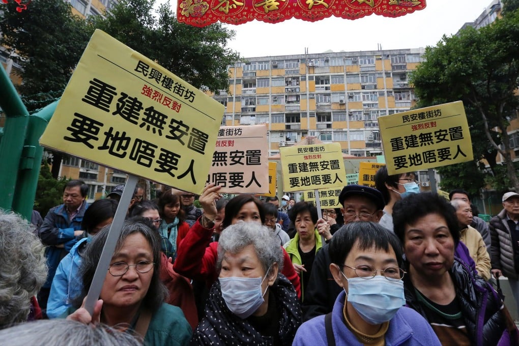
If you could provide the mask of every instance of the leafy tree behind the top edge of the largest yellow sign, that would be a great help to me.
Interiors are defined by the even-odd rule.
[[[154,3],[122,0],[105,18],[91,17],[91,30],[103,30],[197,88],[228,90],[227,66],[239,59],[237,52],[226,48],[234,31],[221,23],[206,27],[179,23],[169,3],[162,4],[155,16]]]

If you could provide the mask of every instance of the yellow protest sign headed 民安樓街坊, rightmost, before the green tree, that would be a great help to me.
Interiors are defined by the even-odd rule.
[[[378,124],[390,175],[473,159],[461,101],[379,117]]]

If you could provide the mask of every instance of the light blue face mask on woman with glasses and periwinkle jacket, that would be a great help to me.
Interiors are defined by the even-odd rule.
[[[402,280],[390,281],[381,275],[373,279],[348,279],[342,271],[341,273],[348,281],[348,302],[367,323],[380,324],[390,321],[405,305]]]

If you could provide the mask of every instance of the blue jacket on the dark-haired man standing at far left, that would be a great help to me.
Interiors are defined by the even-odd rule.
[[[39,228],[38,235],[44,245],[45,257],[47,257],[47,266],[49,267],[49,275],[47,281],[43,285],[44,288],[50,288],[54,273],[60,264],[60,261],[71,248],[76,244],[79,238],[74,237],[74,231],[81,229],[81,222],[87,210],[88,203],[86,201],[81,205],[79,212],[72,220],[66,212],[65,204],[53,207],[45,216],[43,225]],[[56,247],[63,244],[64,247]]]

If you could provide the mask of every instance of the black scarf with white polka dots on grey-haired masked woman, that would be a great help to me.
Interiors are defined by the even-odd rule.
[[[275,296],[276,307],[281,315],[279,339],[283,345],[292,345],[302,315],[294,286],[280,273],[275,284],[268,289],[269,295]],[[196,328],[191,344],[267,346],[272,344],[272,340],[262,336],[247,319],[242,320],[230,312],[222,298],[220,281],[216,280],[209,293],[205,316]]]

